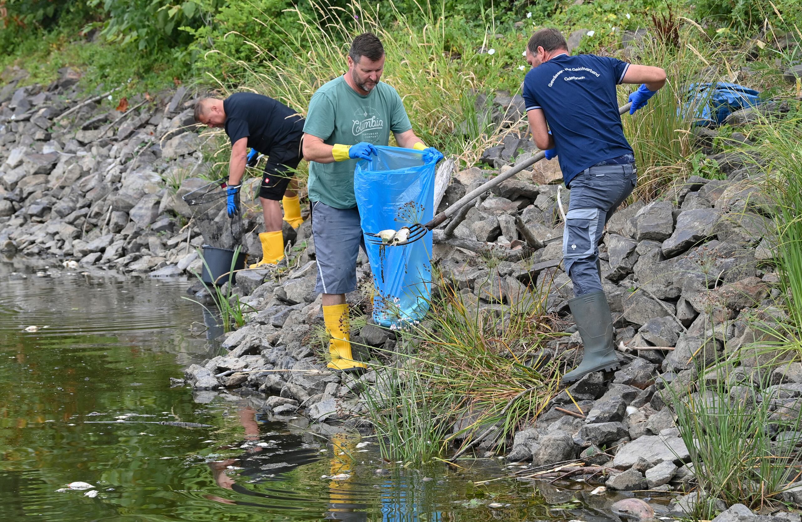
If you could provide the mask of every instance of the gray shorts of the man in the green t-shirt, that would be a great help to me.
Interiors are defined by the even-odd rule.
[[[365,249],[359,209],[334,208],[312,202],[312,235],[318,260],[319,293],[349,293],[356,289],[356,259]]]

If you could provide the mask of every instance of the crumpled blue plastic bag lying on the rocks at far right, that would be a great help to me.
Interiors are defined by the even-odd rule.
[[[756,107],[759,91],[737,83],[691,83],[678,115],[693,118],[694,125],[719,125],[733,111]]]

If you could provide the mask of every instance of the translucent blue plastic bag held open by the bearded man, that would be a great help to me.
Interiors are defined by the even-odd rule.
[[[399,230],[426,223],[434,216],[435,161],[409,148],[376,147],[378,156],[360,160],[354,171],[354,194],[364,233]],[[403,326],[423,318],[431,292],[431,233],[410,245],[371,244],[367,258],[376,289],[373,320],[381,326]]]

